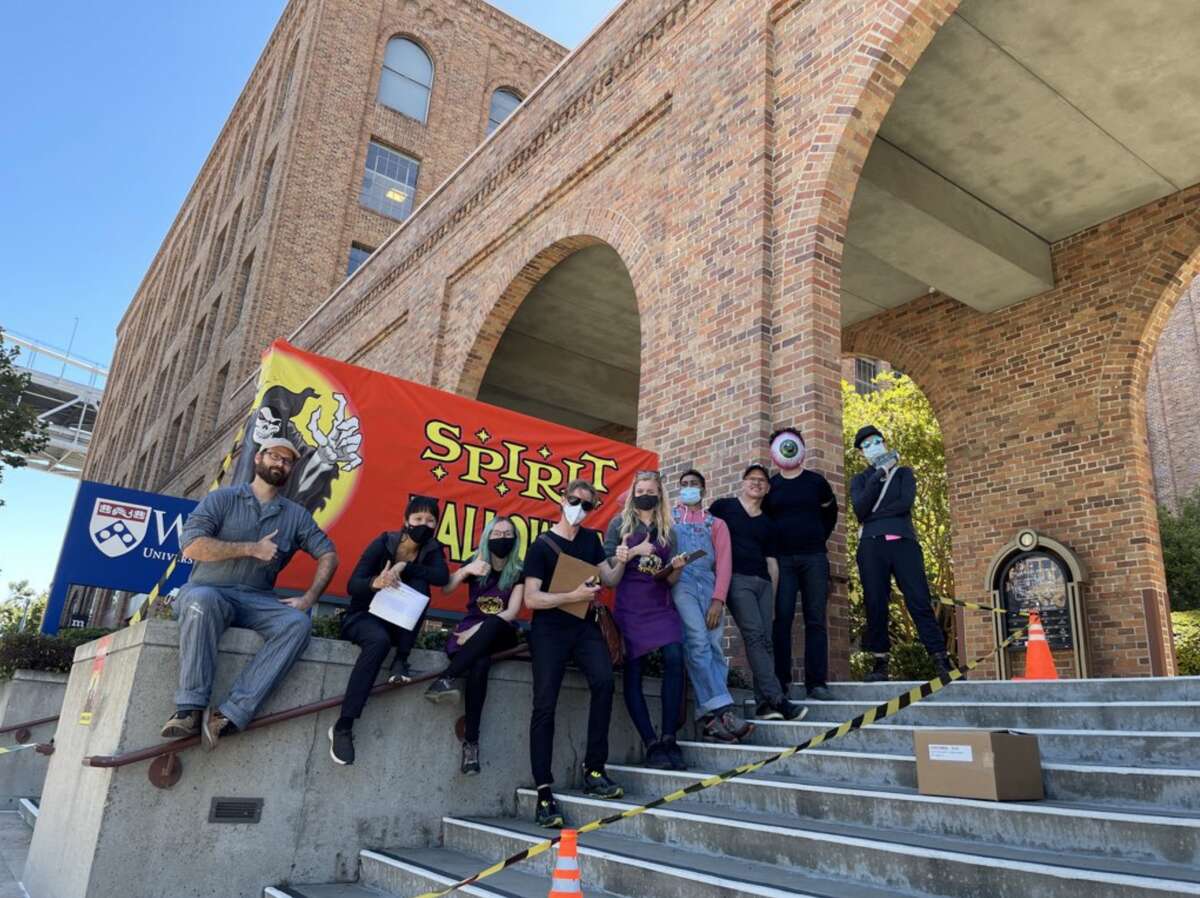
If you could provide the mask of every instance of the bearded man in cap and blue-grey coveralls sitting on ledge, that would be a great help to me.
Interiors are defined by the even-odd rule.
[[[175,600],[179,690],[163,738],[199,734],[211,752],[221,737],[246,729],[308,645],[308,611],[332,579],[337,553],[312,515],[278,495],[298,456],[287,439],[263,442],[253,481],[214,490],[184,523],[179,543],[194,567]],[[317,559],[317,573],[302,595],[278,597],[275,579],[298,549]],[[229,627],[256,630],[264,643],[211,710],[217,642]]]

